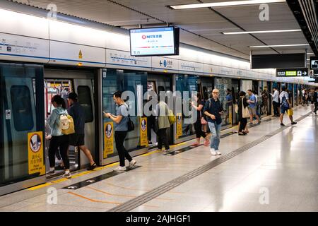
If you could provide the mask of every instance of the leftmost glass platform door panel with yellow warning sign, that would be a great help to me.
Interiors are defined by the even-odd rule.
[[[0,195],[45,182],[43,68],[0,64]],[[29,138],[30,136],[30,138]],[[29,145],[32,143],[32,146]],[[37,169],[34,168],[35,153]]]

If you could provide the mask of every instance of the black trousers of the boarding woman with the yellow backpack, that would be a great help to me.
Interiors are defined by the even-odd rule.
[[[49,141],[49,167],[55,167],[55,153],[59,148],[59,153],[64,162],[66,169],[69,169],[69,155],[67,150],[69,150],[69,136],[52,136],[51,141]]]

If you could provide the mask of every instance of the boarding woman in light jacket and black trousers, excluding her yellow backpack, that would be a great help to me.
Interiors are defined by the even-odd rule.
[[[64,99],[60,95],[55,95],[52,97],[52,105],[54,109],[47,119],[47,124],[51,128],[51,141],[49,142],[49,174],[54,173],[55,167],[55,153],[57,148],[59,148],[59,153],[61,153],[61,158],[64,162],[65,173],[63,177],[71,178],[71,173],[69,172],[69,156],[67,151],[69,150],[69,135],[64,135],[62,133],[61,126],[61,116],[67,116],[67,110]]]

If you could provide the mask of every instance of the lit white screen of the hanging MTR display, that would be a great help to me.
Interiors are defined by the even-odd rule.
[[[131,56],[165,56],[175,54],[173,27],[130,30]]]

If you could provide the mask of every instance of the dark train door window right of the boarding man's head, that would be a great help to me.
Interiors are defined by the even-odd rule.
[[[92,97],[90,95],[90,88],[87,85],[78,85],[78,102],[84,109],[85,122],[93,121],[93,105]]]

